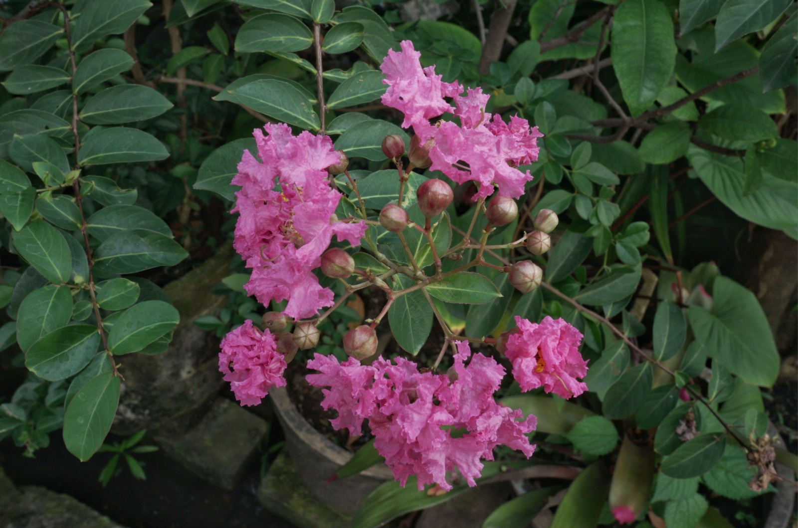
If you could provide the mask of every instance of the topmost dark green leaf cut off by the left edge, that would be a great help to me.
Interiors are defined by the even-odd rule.
[[[61,26],[41,20],[19,20],[0,35],[0,72],[7,72],[47,53],[64,33]]]

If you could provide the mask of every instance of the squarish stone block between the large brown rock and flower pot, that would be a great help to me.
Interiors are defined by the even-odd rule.
[[[199,477],[231,490],[241,480],[266,435],[267,422],[219,398],[191,427],[179,418],[156,431],[164,452]]]

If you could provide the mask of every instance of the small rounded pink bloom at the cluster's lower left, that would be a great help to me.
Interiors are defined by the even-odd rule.
[[[285,386],[286,361],[268,329],[261,332],[245,321],[224,337],[220,348],[219,371],[242,405],[257,405],[270,388]]]

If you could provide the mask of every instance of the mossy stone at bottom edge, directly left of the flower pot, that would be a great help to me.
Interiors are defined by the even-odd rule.
[[[299,528],[344,528],[350,517],[318,500],[302,484],[288,451],[283,449],[258,487],[263,506]]]

